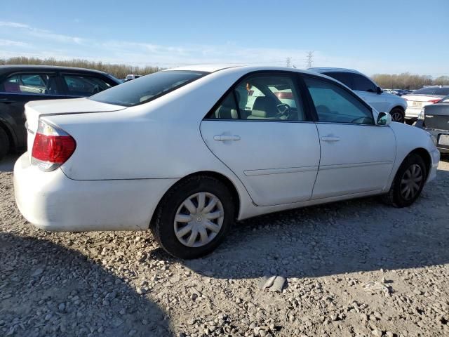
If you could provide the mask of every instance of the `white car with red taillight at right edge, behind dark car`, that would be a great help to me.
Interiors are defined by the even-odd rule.
[[[439,102],[449,95],[449,86],[424,86],[413,93],[403,95],[407,101],[406,119],[416,121],[423,107]]]

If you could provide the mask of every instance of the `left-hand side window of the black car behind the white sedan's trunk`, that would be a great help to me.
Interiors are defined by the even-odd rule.
[[[15,74],[0,84],[4,93],[58,95],[60,90],[53,74]]]

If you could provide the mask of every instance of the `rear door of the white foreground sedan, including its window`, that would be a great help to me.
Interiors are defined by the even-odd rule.
[[[251,74],[201,122],[206,145],[259,206],[308,200],[314,187],[319,138],[296,79],[290,72]]]

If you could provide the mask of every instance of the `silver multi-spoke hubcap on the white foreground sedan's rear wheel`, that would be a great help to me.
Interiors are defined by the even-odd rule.
[[[188,247],[204,246],[215,239],[224,218],[220,199],[208,192],[195,193],[185,199],[176,211],[176,237]]]

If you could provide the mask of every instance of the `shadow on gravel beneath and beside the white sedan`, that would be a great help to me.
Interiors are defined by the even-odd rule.
[[[371,197],[245,220],[215,252],[181,263],[221,279],[320,277],[449,263],[448,185],[449,172],[438,171],[409,208]]]

